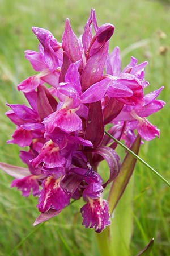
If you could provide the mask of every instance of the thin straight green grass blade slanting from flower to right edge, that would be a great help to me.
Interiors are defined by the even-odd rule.
[[[123,143],[118,141],[116,138],[114,138],[111,134],[109,134],[107,131],[105,131],[105,134],[107,134],[109,137],[111,137],[114,141],[116,141],[118,144],[120,144],[121,147],[124,147],[126,151],[128,151],[131,155],[134,156],[134,158],[138,159],[141,163],[143,163],[147,168],[149,168],[154,174],[159,177],[162,181],[164,181],[165,184],[170,187],[170,183],[168,180],[166,180],[162,175],[159,174],[153,167],[151,167],[148,163],[146,163],[142,158],[140,158],[138,155],[136,155],[133,151],[131,151],[128,147],[126,147]]]

